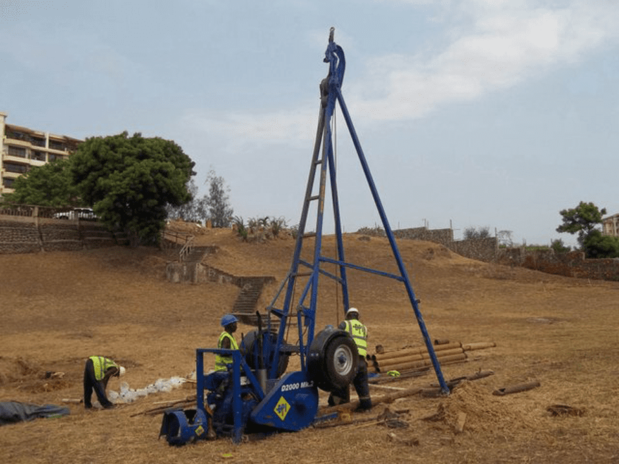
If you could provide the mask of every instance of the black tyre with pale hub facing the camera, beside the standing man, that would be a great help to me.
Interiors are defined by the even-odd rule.
[[[323,353],[325,390],[349,386],[357,373],[359,355],[354,340],[345,335],[334,337]]]

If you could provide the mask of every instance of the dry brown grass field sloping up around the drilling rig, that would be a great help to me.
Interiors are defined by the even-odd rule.
[[[394,269],[385,239],[359,238],[346,234],[347,261]],[[241,243],[221,230],[206,230],[197,240],[219,245],[205,263],[231,274],[274,276],[263,306],[290,267],[294,245],[290,238]],[[325,249],[333,245],[332,237],[325,239]],[[158,439],[162,416],[140,412],[191,395],[189,388],[113,410],[68,404],[71,414],[65,417],[2,426],[0,462],[619,463],[619,283],[480,263],[434,243],[399,245],[431,338],[497,344],[468,353],[467,362],[443,366],[444,377],[494,375],[463,382],[448,397],[416,395],[376,406],[349,425],[240,445],[219,439],[174,448]],[[89,355],[118,360],[127,367],[120,380],[136,389],[191,373],[195,349],[215,346],[219,318],[230,311],[239,289],[169,283],[169,259],[160,250],[123,247],[0,255],[0,401],[63,405],[63,399],[80,398]],[[422,344],[401,284],[350,272],[349,286],[351,304],[369,328],[369,346]],[[327,281],[316,329],[336,324],[341,313],[335,285]],[[239,326],[237,339],[250,330]],[[48,371],[65,376],[45,379]],[[540,386],[492,395],[533,381]],[[387,385],[435,382],[431,371]],[[108,389],[118,388],[119,380],[112,379]],[[375,399],[392,391],[371,388]],[[553,416],[547,408],[556,404],[584,412]],[[365,420],[385,406],[407,411],[400,415],[406,427]],[[459,432],[457,421],[464,417]]]

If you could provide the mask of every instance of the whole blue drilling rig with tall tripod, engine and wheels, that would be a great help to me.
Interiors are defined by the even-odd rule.
[[[324,61],[329,64],[329,72],[320,85],[318,129],[290,271],[267,307],[265,320],[261,320],[258,314],[258,329],[243,338],[240,350],[196,350],[197,407],[195,410],[167,410],[164,413],[160,436],[165,435],[171,444],[182,445],[219,436],[232,437],[238,443],[243,434],[297,431],[323,419],[316,417],[318,390],[332,391],[348,386],[357,370],[358,355],[356,344],[345,331],[327,326],[315,333],[318,282],[319,277],[334,280],[341,289],[343,309],[347,311],[347,269],[395,279],[404,285],[439,386],[445,394],[449,391],[342,95],[346,60],[342,47],[334,42],[333,27],[329,32]],[[398,274],[355,265],[345,259],[332,133],[336,104],[339,104],[347,124],[384,232],[391,245],[393,258],[398,265]],[[323,256],[322,250],[327,179],[334,212],[336,258]],[[314,231],[306,232],[310,205],[316,206],[316,223]],[[310,247],[313,244],[313,252],[302,253],[306,243],[309,243]],[[312,256],[312,259],[304,260],[302,255]],[[336,272],[327,270],[334,266]],[[293,304],[297,287],[302,290]],[[287,329],[292,326],[298,329],[298,336],[294,337],[297,342],[294,344],[287,342]],[[232,357],[229,382],[224,392],[217,390],[212,374],[204,374],[204,353]],[[299,355],[301,368],[286,373],[288,359],[293,354]],[[205,391],[208,391],[206,395]]]

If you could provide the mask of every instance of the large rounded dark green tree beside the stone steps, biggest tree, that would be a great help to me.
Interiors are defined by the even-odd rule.
[[[158,243],[166,206],[191,199],[194,162],[171,140],[127,132],[91,137],[70,158],[73,184],[100,221],[120,227],[131,246]]]

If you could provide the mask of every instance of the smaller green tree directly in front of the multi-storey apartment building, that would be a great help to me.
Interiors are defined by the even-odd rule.
[[[9,203],[39,206],[89,206],[78,195],[69,173],[69,161],[35,166],[15,179],[15,191],[4,196]]]

